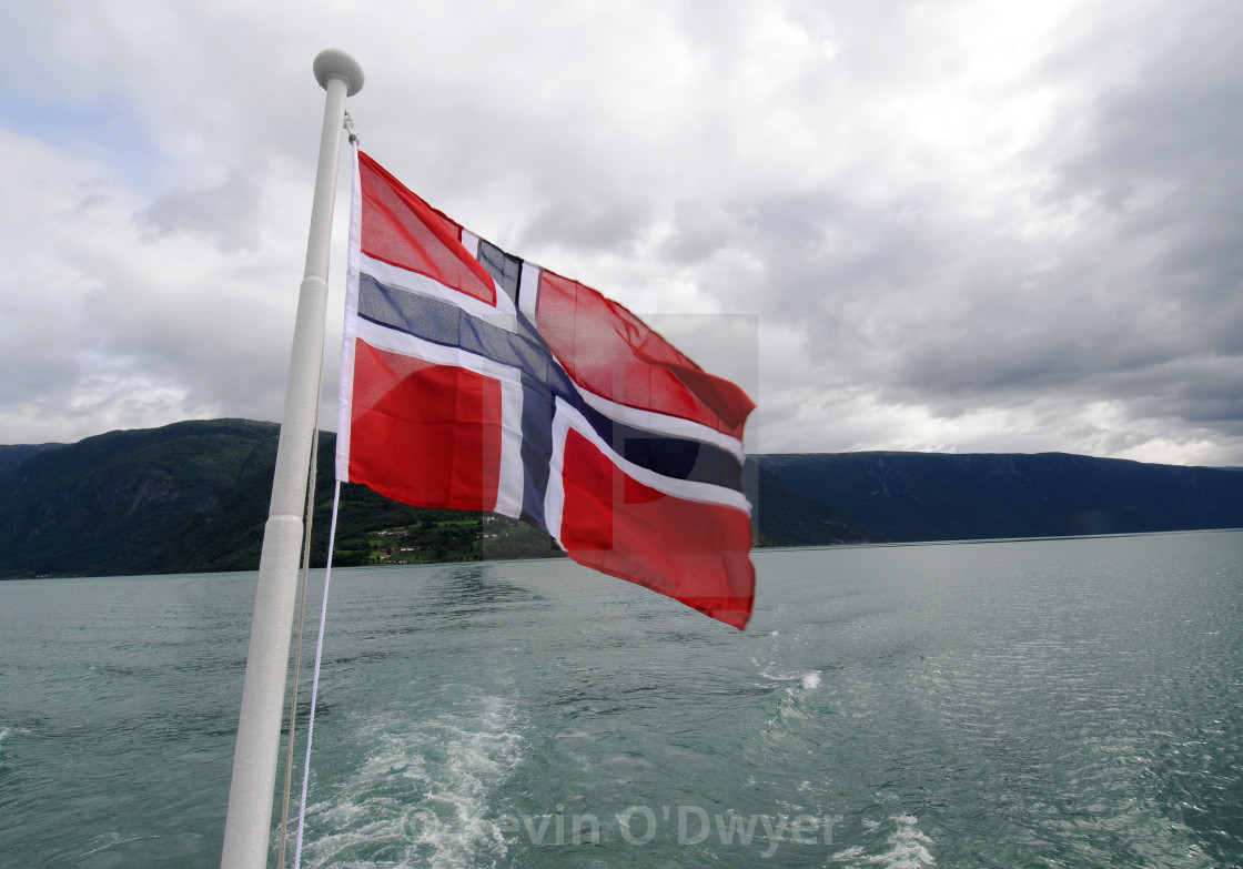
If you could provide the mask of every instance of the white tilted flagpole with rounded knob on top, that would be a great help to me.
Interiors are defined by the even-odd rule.
[[[314,58],[314,77],[328,96],[311,206],[306,270],[290,354],[285,416],[276,451],[272,502],[259,561],[259,589],[255,593],[246,683],[237,722],[221,869],[264,869],[267,865],[285,676],[290,663],[290,634],[302,548],[302,508],[311,441],[319,410],[318,372],[323,357],[328,245],[337,194],[341,132],[346,97],[354,96],[363,87],[363,68],[358,61],[336,48],[322,51]]]

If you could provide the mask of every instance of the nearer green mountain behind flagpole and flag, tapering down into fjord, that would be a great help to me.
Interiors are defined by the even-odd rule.
[[[242,419],[111,431],[77,444],[0,448],[0,578],[254,569],[267,520],[280,429]],[[312,561],[328,548],[336,435],[319,438]],[[880,540],[777,477],[748,472],[761,540],[773,546]],[[758,495],[757,495],[758,492]],[[367,533],[460,518],[342,489],[337,563],[360,563]],[[475,557],[557,554],[531,535],[475,533]],[[434,536],[429,532],[429,536]],[[547,541],[547,538],[544,538]],[[430,547],[431,557],[461,548]]]

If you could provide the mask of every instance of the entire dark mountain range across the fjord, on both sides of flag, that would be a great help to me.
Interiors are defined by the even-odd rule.
[[[0,578],[254,569],[277,435],[271,423],[221,419],[0,448]],[[319,438],[318,564],[334,443],[331,433]],[[752,456],[743,477],[759,546],[1243,527],[1243,471],[1211,467],[1062,454],[843,453]],[[452,528],[438,525],[445,522]],[[373,554],[368,532],[395,527],[410,527],[404,535],[434,559],[554,552],[546,537],[506,537],[498,525],[485,546],[484,525],[464,526],[460,513],[347,485],[337,563],[363,563]]]

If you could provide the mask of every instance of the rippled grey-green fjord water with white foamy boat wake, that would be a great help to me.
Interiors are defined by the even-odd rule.
[[[303,864],[1243,865],[1243,532],[755,561],[336,572]],[[0,583],[0,865],[218,865],[254,583]]]

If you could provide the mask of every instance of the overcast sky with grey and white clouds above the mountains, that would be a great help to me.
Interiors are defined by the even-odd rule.
[[[1237,0],[7,0],[0,443],[278,419],[328,46],[373,157],[752,450],[1243,464]]]

